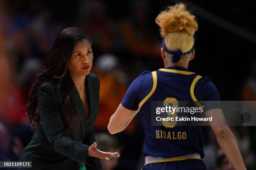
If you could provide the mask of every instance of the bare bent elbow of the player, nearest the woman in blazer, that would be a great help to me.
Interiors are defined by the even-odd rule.
[[[115,134],[125,130],[129,125],[133,117],[138,113],[138,110],[129,110],[120,104],[115,113],[110,117],[108,123],[108,131],[111,134]]]

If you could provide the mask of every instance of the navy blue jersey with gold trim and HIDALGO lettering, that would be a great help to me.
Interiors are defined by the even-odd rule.
[[[184,67],[145,71],[131,83],[121,104],[129,110],[140,108],[145,131],[142,149],[145,156],[175,158],[200,154],[201,158],[204,157],[200,126],[171,126],[168,123],[151,126],[151,101],[197,100],[220,100],[218,89],[208,77],[201,77]]]

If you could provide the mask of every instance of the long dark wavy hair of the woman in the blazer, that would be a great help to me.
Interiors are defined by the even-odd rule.
[[[90,38],[79,28],[66,28],[54,40],[51,53],[44,62],[43,70],[37,75],[37,80],[30,89],[29,101],[26,105],[26,114],[29,116],[33,132],[36,130],[36,122],[41,123],[38,116],[37,90],[49,80],[56,80],[58,92],[64,99],[61,112],[65,123],[64,130],[69,132],[72,129],[75,119],[72,114],[72,99],[70,97],[72,79],[68,73],[67,61],[72,56],[74,46],[81,40],[91,43]]]

